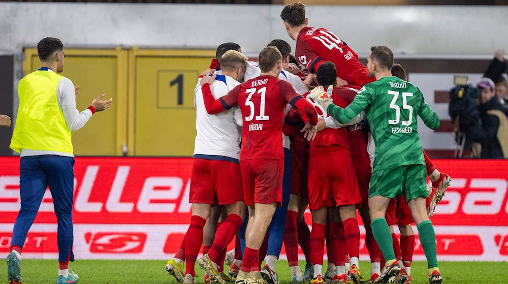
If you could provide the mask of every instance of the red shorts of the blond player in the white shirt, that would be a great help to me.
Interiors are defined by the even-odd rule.
[[[240,165],[194,159],[190,174],[190,203],[232,204],[243,201]]]

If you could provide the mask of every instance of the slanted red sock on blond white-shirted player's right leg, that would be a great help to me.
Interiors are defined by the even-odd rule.
[[[242,218],[236,214],[230,214],[224,222],[222,222],[222,225],[215,232],[215,239],[208,251],[208,257],[211,261],[219,264],[220,254],[231,242],[236,234],[236,231],[238,231],[238,228],[242,225],[242,222]]]

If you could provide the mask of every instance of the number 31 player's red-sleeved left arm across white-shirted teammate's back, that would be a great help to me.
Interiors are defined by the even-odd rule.
[[[238,92],[240,85],[236,86],[227,95],[220,97],[219,99],[213,98],[210,90],[210,84],[215,80],[215,75],[204,76],[200,79],[201,90],[203,91],[203,101],[205,103],[206,112],[210,115],[215,115],[225,110],[233,108],[238,99]]]

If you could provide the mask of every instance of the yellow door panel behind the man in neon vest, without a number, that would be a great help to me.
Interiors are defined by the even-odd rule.
[[[93,115],[90,121],[72,133],[76,156],[120,156],[126,145],[127,129],[127,51],[116,49],[65,48],[62,76],[81,89],[76,96],[77,109],[82,111],[91,101],[106,92],[113,97],[112,107]],[[25,74],[37,70],[41,61],[36,48],[25,48]]]

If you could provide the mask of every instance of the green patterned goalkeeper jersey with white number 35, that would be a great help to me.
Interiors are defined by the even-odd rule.
[[[341,123],[363,110],[376,146],[374,168],[425,165],[417,116],[431,129],[439,127],[439,118],[418,87],[394,76],[383,77],[363,86],[347,108],[330,104],[327,109]]]

